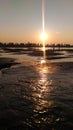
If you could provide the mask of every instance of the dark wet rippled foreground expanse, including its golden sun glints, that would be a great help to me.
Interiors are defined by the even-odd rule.
[[[0,69],[0,130],[73,129],[73,62],[11,58],[0,64],[21,64]]]

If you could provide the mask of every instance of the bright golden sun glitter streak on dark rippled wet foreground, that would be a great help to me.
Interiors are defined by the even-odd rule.
[[[48,66],[45,60],[41,60],[40,69],[38,73],[40,78],[37,81],[37,92],[33,94],[35,101],[35,113],[46,113],[47,109],[53,105],[53,101],[50,100],[50,92],[52,91],[52,80],[48,76]]]

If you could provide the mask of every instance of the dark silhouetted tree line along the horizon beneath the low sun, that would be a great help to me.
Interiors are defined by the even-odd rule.
[[[2,43],[0,42],[0,47],[42,47],[43,44],[41,43],[13,43],[13,42],[9,42],[9,43]],[[73,47],[72,44],[63,44],[63,43],[51,43],[51,44],[46,44],[46,47]]]

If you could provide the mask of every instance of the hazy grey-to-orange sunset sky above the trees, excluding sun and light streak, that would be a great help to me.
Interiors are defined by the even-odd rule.
[[[47,43],[73,43],[73,0],[44,0]],[[0,41],[41,42],[42,0],[0,0]]]

